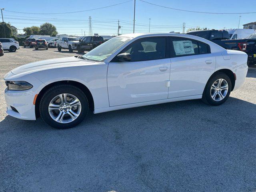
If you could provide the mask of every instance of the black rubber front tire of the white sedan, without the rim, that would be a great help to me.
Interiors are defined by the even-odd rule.
[[[79,116],[72,122],[68,122],[68,123],[56,122],[55,120],[52,119],[48,111],[48,106],[50,104],[50,101],[55,96],[59,94],[64,94],[64,93],[68,93],[76,96],[76,98],[78,98],[78,100],[81,103],[81,112]],[[82,92],[82,90],[80,90],[76,86],[63,84],[63,85],[53,86],[50,89],[48,89],[42,96],[42,99],[40,100],[39,108],[40,108],[40,114],[44,122],[46,122],[48,125],[52,126],[53,128],[67,129],[80,124],[80,122],[84,120],[84,118],[88,113],[89,106],[88,106],[88,100],[86,98],[86,95],[84,94],[84,92]]]

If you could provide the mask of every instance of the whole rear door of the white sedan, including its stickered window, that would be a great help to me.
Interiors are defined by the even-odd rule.
[[[215,70],[210,46],[188,38],[170,38],[171,73],[168,98],[201,95]]]

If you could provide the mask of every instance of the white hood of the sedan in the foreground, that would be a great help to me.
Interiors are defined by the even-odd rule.
[[[80,66],[80,65],[93,65],[93,64],[98,64],[98,63],[79,59],[73,56],[73,57],[48,59],[48,60],[42,60],[38,62],[25,64],[13,69],[12,73],[16,75],[30,74],[32,72],[37,72],[37,71],[47,70],[52,68],[62,68],[62,67]]]

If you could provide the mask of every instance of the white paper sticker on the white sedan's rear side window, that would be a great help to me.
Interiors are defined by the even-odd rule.
[[[195,54],[192,41],[173,41],[173,46],[176,55]]]

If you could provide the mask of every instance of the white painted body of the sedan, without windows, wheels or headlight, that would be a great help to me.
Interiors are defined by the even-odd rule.
[[[221,69],[236,74],[234,90],[239,88],[248,70],[247,54],[224,48],[200,37],[183,34],[127,34],[131,38],[104,62],[76,57],[44,60],[20,66],[4,76],[6,81],[27,81],[27,91],[5,91],[7,113],[35,120],[34,96],[47,85],[59,81],[84,84],[92,94],[94,113],[202,98],[210,76]],[[143,62],[110,62],[128,44],[139,38],[174,36],[199,40],[210,45],[211,54],[165,58]],[[57,41],[59,42],[59,41]],[[100,45],[101,46],[101,45]],[[98,47],[100,47],[98,46]],[[211,60],[211,63],[206,61]],[[167,68],[160,71],[159,68]],[[170,81],[170,86],[167,82]],[[19,113],[14,112],[15,107]]]

